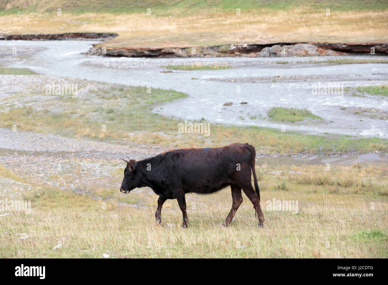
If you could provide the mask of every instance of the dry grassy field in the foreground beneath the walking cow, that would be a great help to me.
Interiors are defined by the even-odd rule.
[[[228,188],[186,195],[189,227],[183,229],[175,200],[166,201],[156,224],[157,196],[150,190],[99,189],[99,200],[33,185],[0,167],[0,178],[30,189],[15,199],[31,200],[31,214],[0,216],[0,257],[388,257],[388,168],[267,167],[256,168],[266,219],[260,229],[244,194],[234,221],[220,227],[232,204]],[[297,200],[297,211],[271,211],[273,199]]]

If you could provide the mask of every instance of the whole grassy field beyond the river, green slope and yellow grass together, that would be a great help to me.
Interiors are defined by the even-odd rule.
[[[7,1],[1,33],[114,32],[104,47],[386,42],[383,1]],[[137,7],[136,9],[132,7]],[[57,9],[61,15],[57,15]],[[151,9],[147,16],[147,9]],[[236,9],[240,9],[239,16]],[[326,15],[330,9],[330,15]],[[219,31],[222,31],[220,33]]]

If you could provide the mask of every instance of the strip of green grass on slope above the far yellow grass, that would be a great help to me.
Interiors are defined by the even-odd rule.
[[[384,10],[387,8],[384,1],[370,0],[367,3],[360,0],[345,0],[337,2],[334,0],[316,2],[313,0],[301,1],[284,1],[284,0],[151,0],[142,2],[138,0],[113,0],[107,2],[105,0],[85,0],[82,2],[72,3],[67,5],[67,0],[32,0],[32,1],[17,1],[10,0],[0,3],[0,15],[17,14],[17,12],[56,12],[60,7],[63,12],[72,14],[81,14],[85,12],[107,12],[107,13],[131,13],[131,12],[146,12],[146,9],[152,9],[152,14],[166,15],[166,13],[175,10],[181,12],[184,10],[195,12],[201,11],[236,11],[236,9],[252,10],[252,9],[268,9],[268,10],[286,10],[295,7],[303,7],[307,10],[325,10],[330,8],[334,11],[346,10]],[[183,13],[182,13],[183,14]]]

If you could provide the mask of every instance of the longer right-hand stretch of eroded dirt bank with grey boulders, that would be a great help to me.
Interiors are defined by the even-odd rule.
[[[150,48],[111,48],[95,44],[87,54],[125,57],[288,57],[371,54],[373,49],[376,55],[388,55],[388,44],[385,43],[275,43]]]

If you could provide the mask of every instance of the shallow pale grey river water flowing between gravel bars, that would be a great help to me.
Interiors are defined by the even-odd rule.
[[[2,41],[0,45],[40,46],[46,50],[35,55],[23,55],[19,62],[9,62],[8,67],[28,67],[42,74],[55,74],[76,78],[120,83],[124,85],[151,86],[185,92],[187,98],[157,107],[154,112],[180,120],[200,120],[231,125],[255,125],[286,131],[309,134],[342,134],[360,137],[388,138],[388,120],[371,119],[366,116],[344,112],[340,107],[375,108],[388,111],[388,98],[381,96],[352,97],[341,95],[312,95],[312,85],[317,80],[289,80],[284,82],[236,83],[210,81],[210,78],[246,78],[264,76],[329,76],[320,80],[338,83],[346,87],[388,84],[388,64],[342,64],[317,66],[313,64],[261,64],[263,61],[309,61],[327,59],[386,59],[377,55],[332,56],[332,57],[282,57],[282,58],[192,58],[168,59],[171,63],[187,61],[257,63],[257,66],[236,67],[223,70],[174,71],[160,73],[163,67],[145,69],[122,69],[101,66],[86,66],[86,61],[118,61],[133,65],[139,62],[165,62],[166,59],[126,57],[99,57],[80,54],[88,50],[94,41]],[[199,78],[193,80],[191,78]],[[237,93],[237,90],[240,93]],[[233,102],[232,106],[223,106]],[[240,102],[248,104],[240,105]],[[307,108],[322,117],[322,121],[274,122],[264,119],[272,107]],[[256,116],[257,119],[249,117]]]

